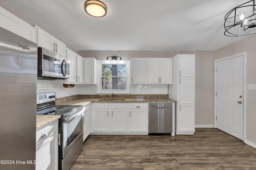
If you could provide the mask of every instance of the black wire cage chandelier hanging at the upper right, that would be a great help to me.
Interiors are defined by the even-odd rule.
[[[224,34],[229,37],[252,35],[256,33],[256,5],[250,0],[232,9],[225,16]]]

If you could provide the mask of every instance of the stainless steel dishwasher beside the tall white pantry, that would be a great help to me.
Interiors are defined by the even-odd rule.
[[[148,135],[172,134],[172,103],[149,103]]]

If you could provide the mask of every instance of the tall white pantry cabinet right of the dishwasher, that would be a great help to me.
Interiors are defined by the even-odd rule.
[[[173,82],[169,98],[176,100],[176,135],[194,135],[195,132],[195,55],[178,54],[172,58]]]

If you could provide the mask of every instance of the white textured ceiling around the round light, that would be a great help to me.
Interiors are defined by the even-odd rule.
[[[214,51],[246,38],[223,26],[248,0],[101,0],[103,18],[86,14],[86,0],[6,1],[78,51]]]

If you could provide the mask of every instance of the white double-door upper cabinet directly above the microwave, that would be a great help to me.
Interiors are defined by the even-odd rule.
[[[66,45],[40,27],[37,27],[37,45],[66,57]]]

